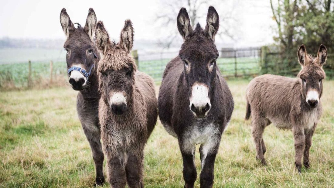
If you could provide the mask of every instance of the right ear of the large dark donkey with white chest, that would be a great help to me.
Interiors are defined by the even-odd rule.
[[[206,17],[206,26],[205,26],[205,34],[208,38],[212,38],[214,40],[214,36],[217,34],[219,28],[219,15],[216,9],[213,6],[209,7],[208,15]]]

